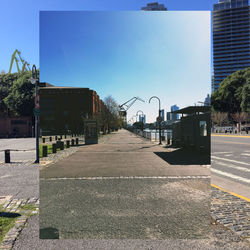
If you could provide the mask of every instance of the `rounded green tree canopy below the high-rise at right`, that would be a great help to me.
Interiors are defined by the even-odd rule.
[[[250,112],[250,67],[225,78],[212,94],[211,103],[213,111]]]

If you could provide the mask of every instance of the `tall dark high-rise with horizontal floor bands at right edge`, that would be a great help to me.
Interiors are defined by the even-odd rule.
[[[237,70],[250,67],[250,6],[248,0],[219,0],[213,6],[212,91]]]

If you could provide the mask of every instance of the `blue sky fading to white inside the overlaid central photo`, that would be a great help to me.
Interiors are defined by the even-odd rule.
[[[139,96],[153,122],[158,104],[180,107],[210,91],[209,11],[41,12],[40,81],[91,88],[119,103]]]

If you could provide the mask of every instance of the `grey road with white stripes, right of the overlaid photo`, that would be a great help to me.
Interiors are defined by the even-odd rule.
[[[250,198],[250,136],[212,136],[212,183]]]

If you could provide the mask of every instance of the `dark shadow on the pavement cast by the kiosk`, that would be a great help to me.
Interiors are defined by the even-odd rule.
[[[187,149],[154,153],[171,165],[210,165],[210,153],[200,153]]]

